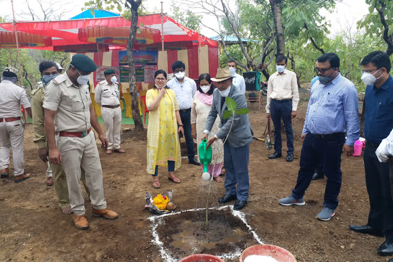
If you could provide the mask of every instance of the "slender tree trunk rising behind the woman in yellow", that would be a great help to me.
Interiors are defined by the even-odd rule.
[[[135,81],[135,61],[134,61],[134,43],[137,34],[137,26],[138,26],[138,7],[140,5],[140,1],[138,3],[134,1],[127,1],[131,6],[130,10],[132,13],[131,26],[129,28],[129,38],[127,43],[127,60],[129,67],[129,94],[132,99],[131,108],[133,111],[133,119],[135,123],[135,129],[142,132],[143,131],[143,122],[142,118],[139,115],[139,105],[138,105],[138,91],[137,85]]]

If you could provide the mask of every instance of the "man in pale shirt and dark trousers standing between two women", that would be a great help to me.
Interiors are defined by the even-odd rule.
[[[168,88],[176,94],[180,108],[180,117],[184,128],[184,137],[187,144],[188,163],[200,165],[195,159],[194,140],[191,135],[191,106],[192,99],[197,93],[197,83],[191,78],[185,76],[186,65],[182,61],[176,61],[172,64],[174,78],[166,83]]]

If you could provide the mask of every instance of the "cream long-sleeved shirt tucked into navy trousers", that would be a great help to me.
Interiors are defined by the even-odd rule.
[[[297,110],[299,90],[295,72],[284,70],[282,74],[275,72],[269,77],[266,113],[270,113],[270,100],[292,99],[292,111]]]

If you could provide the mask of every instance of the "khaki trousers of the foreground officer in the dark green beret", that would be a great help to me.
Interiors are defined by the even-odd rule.
[[[67,177],[71,209],[74,213],[76,215],[85,213],[80,188],[81,168],[85,171],[85,185],[89,188],[93,208],[106,208],[100,156],[93,132],[83,138],[57,135],[56,143],[61,154],[61,166]]]

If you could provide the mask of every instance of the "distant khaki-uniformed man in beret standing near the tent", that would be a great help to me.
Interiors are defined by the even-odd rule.
[[[121,109],[120,89],[115,75],[115,70],[104,71],[105,80],[96,86],[94,100],[101,106],[101,116],[105,123],[106,139],[109,142],[106,154],[111,155],[113,151],[125,153],[120,148]]]

